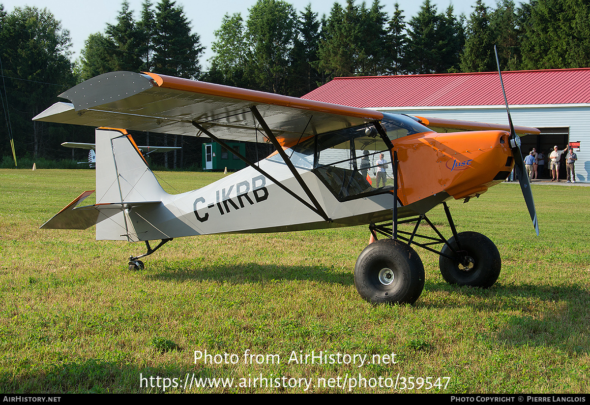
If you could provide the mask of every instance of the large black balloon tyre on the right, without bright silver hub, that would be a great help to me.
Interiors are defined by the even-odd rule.
[[[461,232],[457,234],[461,250],[455,237],[448,240],[457,252],[457,259],[440,256],[438,266],[442,277],[449,284],[490,288],[500,276],[501,259],[498,248],[487,236],[477,232]],[[456,256],[445,244],[441,253]]]

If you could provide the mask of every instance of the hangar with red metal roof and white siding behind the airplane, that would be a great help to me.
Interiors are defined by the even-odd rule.
[[[590,68],[502,73],[514,125],[539,128],[522,138],[523,156],[570,143],[576,181],[590,181]],[[302,98],[413,116],[507,124],[498,73],[337,77]],[[564,155],[565,156],[565,155]],[[562,157],[563,159],[563,157]],[[545,162],[548,159],[545,158]],[[548,178],[548,165],[542,178]],[[565,164],[559,178],[565,179]]]

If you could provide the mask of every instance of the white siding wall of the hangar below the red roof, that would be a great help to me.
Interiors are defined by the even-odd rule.
[[[436,117],[489,123],[507,124],[508,116],[504,106],[454,106],[454,107],[373,107],[389,113],[414,116]],[[590,105],[558,104],[510,106],[512,122],[516,126],[535,128],[569,128],[568,142],[580,141],[580,151],[576,151],[576,181],[590,181]],[[523,142],[526,139],[523,138]],[[558,145],[564,149],[565,144]],[[550,145],[549,148],[553,148]],[[526,151],[522,151],[523,155]]]

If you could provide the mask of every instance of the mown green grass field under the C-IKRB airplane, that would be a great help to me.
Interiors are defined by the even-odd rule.
[[[169,192],[222,177],[158,175]],[[500,278],[450,286],[417,248],[424,292],[404,306],[356,292],[366,227],[175,239],[142,271],[126,258],[143,244],[38,229],[93,189],[90,170],[0,169],[0,392],[590,391],[588,187],[533,185],[540,237],[515,184],[451,201],[459,231],[497,244]]]

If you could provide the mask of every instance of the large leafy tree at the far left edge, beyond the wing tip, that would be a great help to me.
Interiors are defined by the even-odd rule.
[[[51,129],[60,127],[31,119],[75,84],[70,34],[46,9],[15,8],[2,20],[2,67],[15,143],[21,152],[26,145],[33,156],[40,156]]]

